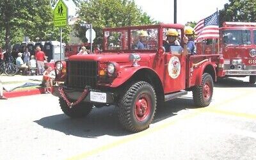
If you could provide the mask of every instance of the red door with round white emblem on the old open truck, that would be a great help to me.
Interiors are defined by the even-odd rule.
[[[185,56],[182,56],[182,47],[171,46],[166,53],[164,67],[164,92],[177,92],[185,88]]]

